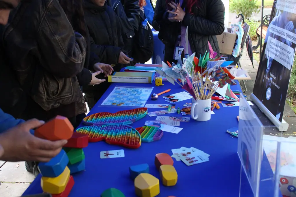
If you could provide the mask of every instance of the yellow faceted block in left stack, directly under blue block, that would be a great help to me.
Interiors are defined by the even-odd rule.
[[[57,177],[42,177],[41,178],[41,188],[44,192],[50,194],[62,193],[69,181],[70,170],[66,166],[64,172]]]

